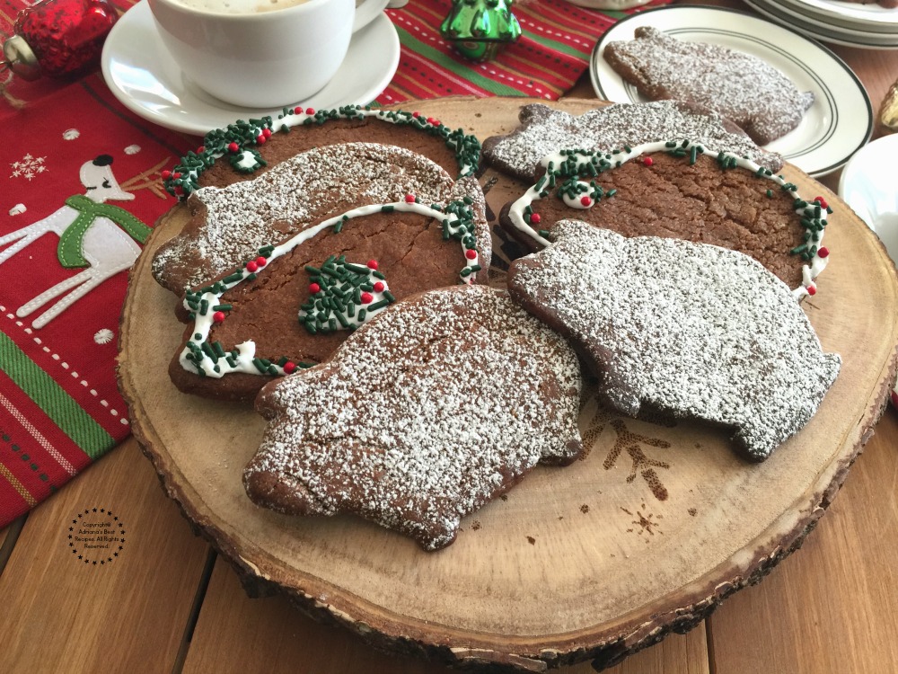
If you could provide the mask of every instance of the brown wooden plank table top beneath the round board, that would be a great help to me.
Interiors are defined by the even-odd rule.
[[[684,4],[699,4],[689,2]],[[701,4],[742,7],[735,0]],[[832,46],[876,108],[898,51]],[[594,96],[588,78],[572,93]],[[838,173],[821,182],[835,191]],[[805,545],[703,624],[615,674],[886,672],[898,663],[898,412],[889,408]],[[113,510],[115,563],[82,566],[66,536],[79,512]],[[374,652],[285,599],[249,599],[159,487],[133,439],[0,530],[0,671],[448,671]],[[589,663],[562,670],[593,671]]]

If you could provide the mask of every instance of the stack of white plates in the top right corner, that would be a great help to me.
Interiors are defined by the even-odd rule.
[[[745,0],[809,38],[865,49],[898,49],[898,9],[839,0]]]

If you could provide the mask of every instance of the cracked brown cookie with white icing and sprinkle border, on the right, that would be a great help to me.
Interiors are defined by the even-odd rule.
[[[500,213],[531,250],[553,223],[577,218],[625,236],[666,236],[751,255],[798,296],[814,294],[829,251],[822,197],[758,164],[689,141],[650,143],[604,155],[561,152],[550,172]]]

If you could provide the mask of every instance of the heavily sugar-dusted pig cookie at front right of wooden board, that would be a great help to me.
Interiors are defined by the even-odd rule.
[[[761,461],[839,373],[788,286],[743,253],[576,220],[551,236],[513,262],[509,292],[569,338],[620,412],[719,424]]]

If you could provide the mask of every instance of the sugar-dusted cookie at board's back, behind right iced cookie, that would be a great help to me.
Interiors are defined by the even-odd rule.
[[[748,156],[774,173],[783,165],[781,156],[756,146],[734,123],[694,103],[614,103],[579,116],[532,103],[521,108],[519,120],[521,126],[506,136],[484,140],[483,156],[524,181],[537,180],[545,170],[544,157],[559,150],[611,152],[668,138],[692,138],[706,147]]]

